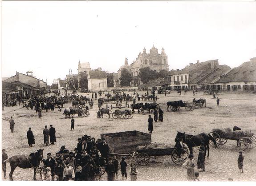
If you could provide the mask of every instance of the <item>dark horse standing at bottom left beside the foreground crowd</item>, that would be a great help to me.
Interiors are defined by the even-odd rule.
[[[13,171],[16,169],[16,167],[20,167],[22,169],[29,169],[29,168],[34,168],[34,180],[36,179],[36,171],[37,171],[37,166],[40,164],[41,156],[43,156],[43,150],[44,149],[39,149],[35,153],[31,153],[28,156],[23,156],[23,155],[16,155],[12,156],[9,158],[9,163],[11,166],[11,172],[9,174],[10,176],[10,181],[13,181],[12,174]]]

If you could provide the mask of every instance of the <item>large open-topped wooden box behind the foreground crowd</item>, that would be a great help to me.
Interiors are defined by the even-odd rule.
[[[104,133],[101,134],[101,139],[102,138],[106,139],[106,143],[110,147],[110,152],[116,154],[133,153],[138,146],[145,146],[151,143],[151,134],[142,133],[137,130],[119,133]]]

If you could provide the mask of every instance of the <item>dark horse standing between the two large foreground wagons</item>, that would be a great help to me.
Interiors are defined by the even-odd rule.
[[[178,131],[175,142],[177,142],[178,138],[183,138],[183,143],[186,143],[189,149],[190,154],[193,154],[193,147],[200,146],[201,143],[204,143],[204,156],[206,156],[206,151],[208,151],[207,158],[209,157],[209,141],[211,140],[214,143],[214,147],[217,147],[217,143],[215,139],[209,133],[199,133],[198,135],[192,135],[187,133],[181,133]],[[207,147],[207,148],[206,148]]]

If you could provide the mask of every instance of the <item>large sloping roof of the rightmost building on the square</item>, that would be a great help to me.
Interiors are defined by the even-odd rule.
[[[256,61],[244,62],[216,82],[224,83],[235,81],[256,81]]]

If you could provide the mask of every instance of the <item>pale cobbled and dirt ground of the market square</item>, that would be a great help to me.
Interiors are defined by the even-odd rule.
[[[138,91],[141,95],[144,92]],[[79,93],[83,96],[91,97],[91,93]],[[104,93],[105,94],[105,93]],[[112,93],[113,94],[113,93]],[[131,93],[130,93],[131,94]],[[184,92],[182,92],[184,94]],[[164,111],[164,121],[154,122],[154,131],[152,142],[175,144],[174,139],[177,131],[189,134],[199,134],[202,132],[211,132],[215,128],[233,128],[234,125],[242,129],[252,129],[256,131],[256,95],[252,93],[222,93],[216,97],[220,98],[220,104],[217,106],[216,99],[211,95],[203,95],[203,92],[193,93],[190,91],[187,95],[181,95],[177,92],[171,92],[165,97],[164,94],[158,94],[158,103]],[[206,98],[206,108],[193,111],[186,111],[181,108],[177,112],[167,112],[167,101],[192,101],[193,98]],[[138,101],[137,101],[138,102]],[[142,102],[142,101],[140,101]],[[143,101],[145,102],[145,101]],[[131,102],[129,102],[130,104]],[[71,105],[65,105],[68,107]],[[88,105],[88,104],[87,104]],[[123,104],[124,105],[124,104]],[[89,106],[89,105],[88,105]],[[109,104],[110,106],[110,104]],[[106,105],[103,105],[106,107]],[[63,110],[62,110],[63,111]],[[2,112],[2,148],[6,149],[9,157],[13,155],[28,155],[38,149],[44,149],[44,158],[51,152],[55,154],[60,150],[61,145],[67,149],[73,150],[77,144],[77,138],[84,134],[100,138],[102,133],[122,132],[138,130],[148,133],[147,118],[148,114],[134,114],[132,119],[114,119],[97,118],[98,101],[94,101],[94,108],[90,109],[88,117],[74,117],[75,129],[70,131],[71,119],[65,119],[62,112],[55,109],[53,112],[43,110],[42,117],[39,118],[34,110],[27,110],[21,106],[5,107]],[[16,123],[14,133],[10,133],[9,121],[5,117],[11,117]],[[45,125],[52,124],[57,133],[57,143],[55,145],[44,146],[43,129]],[[26,133],[28,127],[32,127],[35,136],[35,145],[28,146]],[[256,132],[254,132],[256,133]],[[236,141],[228,142],[219,146],[217,149],[210,149],[210,157],[206,159],[206,171],[200,173],[200,181],[228,181],[233,178],[234,181],[256,181],[256,148],[244,152],[244,174],[238,174],[238,147]],[[198,148],[194,148],[195,161],[197,161]],[[121,157],[118,157],[120,159]],[[132,160],[127,157],[127,162]],[[171,161],[171,156],[162,156],[151,158],[147,166],[138,166],[138,181],[186,181],[186,170],[182,166],[177,166]],[[130,171],[130,167],[127,172]],[[7,179],[10,172],[10,166],[7,164]],[[121,171],[118,172],[121,180]],[[17,168],[13,174],[14,180],[32,180],[33,169]],[[37,174],[39,178],[39,174]],[[106,174],[102,176],[106,181]],[[128,175],[128,180],[130,176]]]

